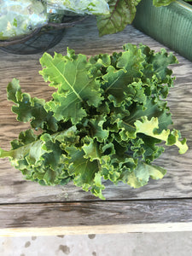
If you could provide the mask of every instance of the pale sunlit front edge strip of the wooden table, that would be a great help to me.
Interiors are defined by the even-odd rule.
[[[0,236],[63,236],[89,234],[160,233],[191,231],[192,222],[166,224],[117,224],[95,226],[68,226],[51,228],[0,229]]]

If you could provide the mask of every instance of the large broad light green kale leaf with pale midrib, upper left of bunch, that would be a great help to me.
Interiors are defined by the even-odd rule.
[[[96,77],[89,73],[90,64],[85,55],[73,55],[73,58],[56,54],[52,58],[45,53],[40,59],[44,67],[40,73],[49,86],[58,88],[53,94],[53,101],[46,103],[47,111],[54,111],[57,120],[71,119],[73,124],[79,122],[86,112],[84,102],[97,107],[102,101],[101,90]]]

